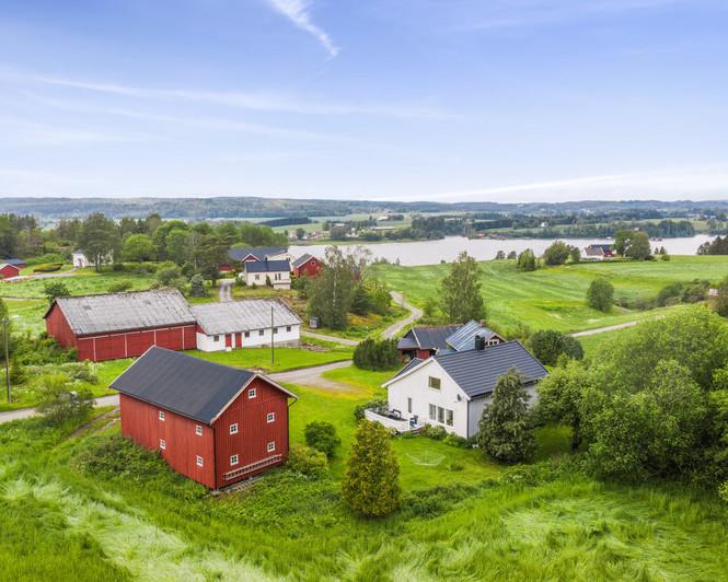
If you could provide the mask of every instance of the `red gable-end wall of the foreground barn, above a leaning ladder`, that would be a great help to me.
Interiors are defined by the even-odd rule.
[[[247,391],[255,388],[256,397],[249,398]],[[267,422],[268,412],[276,415],[274,422]],[[238,423],[238,434],[230,434],[230,424]],[[227,480],[224,474],[252,463],[264,461],[273,455],[288,456],[288,395],[265,380],[256,377],[215,423],[215,449],[217,451],[217,486],[226,487],[236,480],[261,473],[265,468]],[[267,451],[269,442],[276,443],[273,453]],[[230,465],[230,457],[239,455],[238,465]]]

